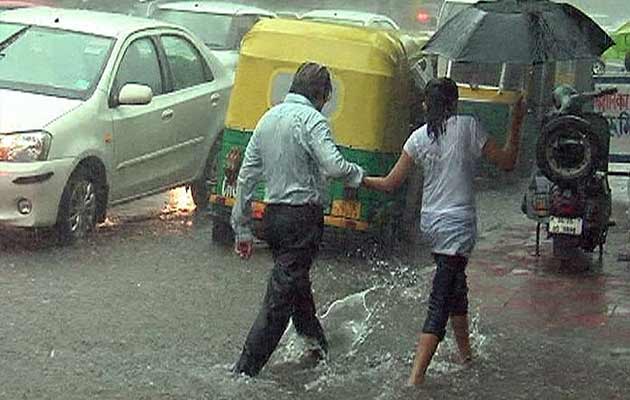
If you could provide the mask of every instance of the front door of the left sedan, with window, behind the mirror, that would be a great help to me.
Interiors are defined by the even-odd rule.
[[[128,83],[149,86],[146,105],[117,104]],[[112,201],[143,195],[167,186],[173,177],[175,136],[172,99],[166,95],[165,72],[150,36],[137,37],[125,48],[110,92],[114,170]]]

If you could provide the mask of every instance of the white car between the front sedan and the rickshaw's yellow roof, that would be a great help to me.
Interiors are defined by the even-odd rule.
[[[190,29],[234,74],[243,36],[260,19],[276,14],[242,4],[177,1],[158,4],[150,16]]]

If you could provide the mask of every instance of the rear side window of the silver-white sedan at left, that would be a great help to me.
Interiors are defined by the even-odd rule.
[[[173,74],[174,90],[181,90],[214,80],[205,60],[187,39],[165,35],[160,40]]]

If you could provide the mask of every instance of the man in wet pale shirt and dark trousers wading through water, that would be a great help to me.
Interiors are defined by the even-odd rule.
[[[264,180],[263,230],[274,266],[236,373],[260,372],[289,318],[309,345],[308,356],[321,359],[326,354],[328,344],[315,316],[309,277],[324,228],[324,177],[359,187],[364,175],[361,167],[343,158],[321,113],[331,93],[328,70],[316,63],[302,64],[284,102],[263,115],[247,145],[232,210],[235,250],[243,259],[252,255],[251,199],[256,184]]]

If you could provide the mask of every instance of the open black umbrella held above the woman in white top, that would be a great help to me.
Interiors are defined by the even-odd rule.
[[[614,44],[577,8],[548,0],[480,1],[424,46],[455,62],[538,64],[594,59]]]

